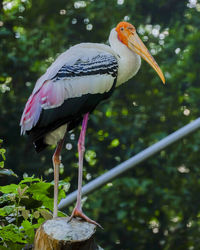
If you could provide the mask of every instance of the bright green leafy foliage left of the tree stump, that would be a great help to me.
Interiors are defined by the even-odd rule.
[[[53,184],[26,177],[18,185],[0,186],[0,193],[0,246],[21,249],[33,243],[35,230],[52,218]],[[60,188],[59,200],[63,197]]]

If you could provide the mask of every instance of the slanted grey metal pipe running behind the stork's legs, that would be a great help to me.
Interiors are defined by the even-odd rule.
[[[160,140],[159,142],[153,144],[152,146],[144,149],[137,155],[131,157],[130,159],[122,162],[118,166],[114,167],[110,171],[106,172],[105,174],[102,174],[101,176],[97,177],[96,179],[90,181],[86,185],[83,186],[82,193],[83,195],[86,195],[95,189],[99,188],[100,186],[110,182],[111,180],[115,179],[120,174],[124,173],[125,171],[133,168],[137,164],[143,162],[150,156],[158,153],[162,149],[168,147],[172,143],[182,139],[183,137],[189,135],[190,133],[194,132],[200,128],[200,118],[197,118],[196,120],[192,121],[191,123],[187,124],[186,126],[178,129],[174,133],[168,135],[164,139]],[[65,199],[62,199],[58,208],[62,209],[72,202],[76,200],[77,191],[72,192],[71,194],[67,195]]]

